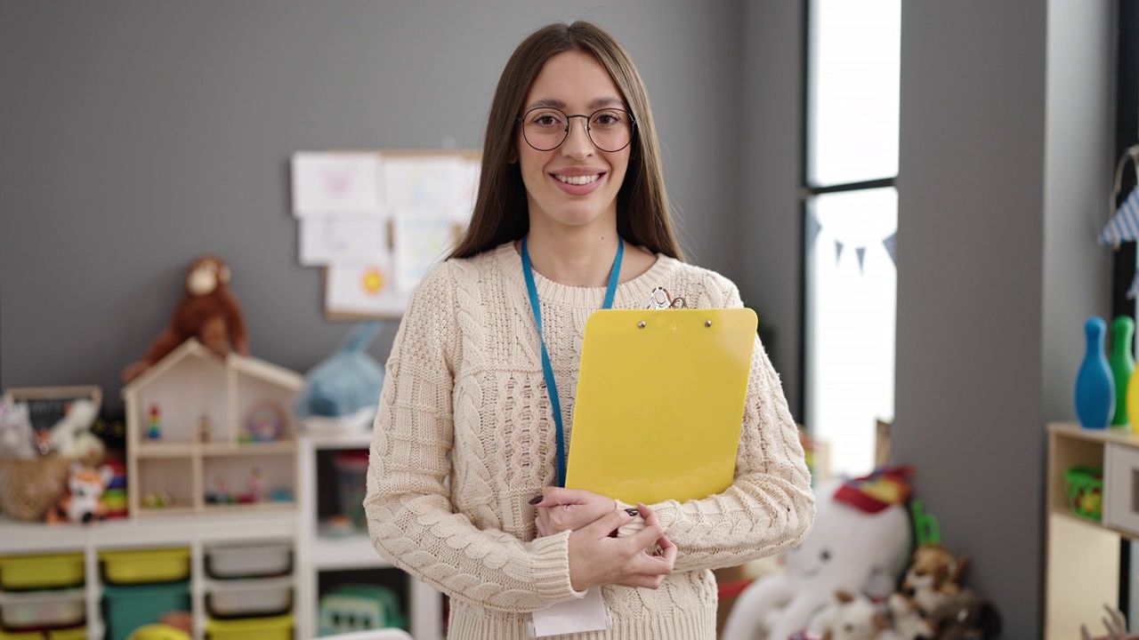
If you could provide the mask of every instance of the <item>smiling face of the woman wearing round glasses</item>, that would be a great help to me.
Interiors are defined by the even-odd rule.
[[[526,95],[524,122],[516,148],[526,184],[531,230],[616,228],[617,191],[625,178],[632,145],[608,153],[593,146],[585,117],[571,117],[570,137],[549,151],[526,142],[523,128],[534,107],[556,107],[570,116],[590,116],[598,109],[625,109],[624,99],[605,67],[592,55],[565,51],[546,61]],[[599,128],[595,136],[600,139]]]

